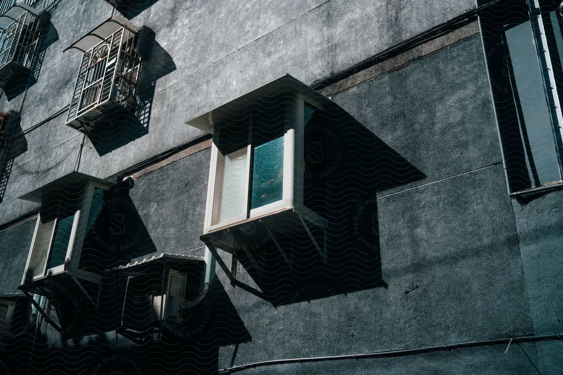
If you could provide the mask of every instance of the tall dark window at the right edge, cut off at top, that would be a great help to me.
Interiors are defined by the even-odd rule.
[[[550,98],[549,70],[563,91],[561,15],[555,2],[540,4],[548,53],[537,38],[524,0],[502,2],[481,17],[491,90],[511,192],[561,182],[560,109]],[[538,54],[539,53],[539,54]],[[546,56],[546,57],[543,57]],[[551,61],[549,68],[546,61]],[[544,84],[546,82],[546,84]],[[546,87],[547,85],[547,87]]]

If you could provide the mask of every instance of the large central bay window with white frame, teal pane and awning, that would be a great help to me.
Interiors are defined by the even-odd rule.
[[[334,131],[334,113],[345,112],[286,74],[186,121],[213,134],[200,239],[233,254],[233,275],[237,251],[254,259],[263,246],[288,260],[288,251],[308,242],[326,261],[328,171],[313,174],[324,164],[310,161],[329,160],[330,150],[328,143],[304,144],[312,133]]]

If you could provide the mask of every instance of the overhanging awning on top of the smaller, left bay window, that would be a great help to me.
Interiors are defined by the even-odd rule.
[[[41,203],[45,198],[52,195],[53,191],[74,191],[79,188],[84,182],[93,182],[97,187],[109,188],[114,185],[113,182],[108,180],[93,177],[88,174],[80,173],[77,171],[69,172],[59,178],[52,180],[38,188],[33,189],[18,198],[25,201]]]

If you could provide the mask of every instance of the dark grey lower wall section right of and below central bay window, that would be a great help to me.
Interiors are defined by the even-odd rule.
[[[366,243],[365,250],[379,246],[387,287],[333,292],[274,308],[227,287],[219,272],[252,336],[237,347],[222,347],[220,367],[533,334],[479,37],[332,98],[426,176],[406,184],[397,180],[396,187],[362,202],[379,231],[379,244]],[[362,234],[350,231],[351,239]],[[220,254],[230,264],[230,255]],[[237,274],[252,283],[243,266]],[[303,286],[325,287],[322,282]],[[506,355],[498,347],[481,347],[243,373],[383,374],[408,368],[443,373],[452,363],[459,373],[529,374],[538,354],[533,344],[512,346]]]

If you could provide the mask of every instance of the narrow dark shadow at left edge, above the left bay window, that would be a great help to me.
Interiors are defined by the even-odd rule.
[[[4,200],[8,179],[12,173],[14,160],[28,151],[28,142],[21,129],[21,118],[15,111],[10,112],[7,119],[5,142],[0,139],[0,203]]]

